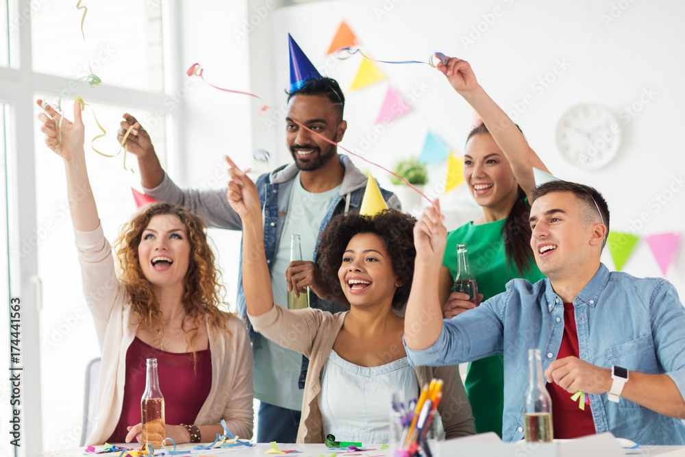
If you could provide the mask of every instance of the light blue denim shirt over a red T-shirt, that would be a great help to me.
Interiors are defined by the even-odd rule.
[[[685,393],[685,308],[666,280],[597,273],[573,300],[580,358],[597,367],[671,377]],[[414,365],[453,365],[503,354],[503,439],[523,439],[523,394],[527,349],[540,349],[543,370],[556,360],[564,335],[564,304],[545,278],[516,279],[506,292],[478,308],[443,321],[443,332],[427,349],[407,355]],[[569,394],[571,395],[571,394]],[[621,397],[590,395],[597,433],[612,432],[641,445],[685,445],[680,419],[660,415]]]

